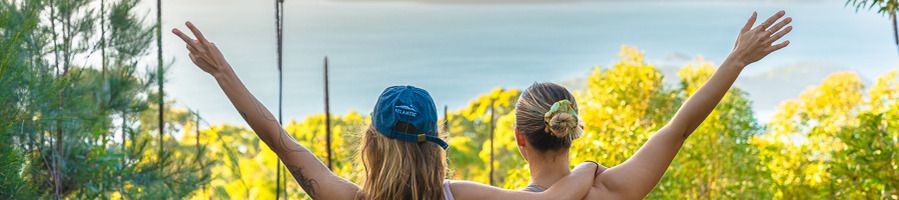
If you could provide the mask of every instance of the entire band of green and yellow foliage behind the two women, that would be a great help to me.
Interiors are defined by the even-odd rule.
[[[136,0],[99,11],[91,3],[0,1],[0,142],[8,144],[0,145],[0,199],[46,199],[57,191],[72,199],[273,198],[276,155],[250,130],[200,129],[195,113],[167,108],[165,137],[153,134],[161,96],[150,86],[160,74],[138,70],[153,29],[134,14]],[[109,24],[94,23],[101,13]],[[101,48],[93,45],[97,26],[109,31],[99,34],[108,41],[101,55],[108,66],[71,64]],[[679,84],[665,85],[639,50],[623,47],[618,63],[596,67],[586,87],[573,91],[586,134],[573,143],[571,164],[624,162],[714,70],[698,60],[677,73]],[[648,198],[899,199],[897,76],[888,73],[866,90],[854,73],[835,73],[785,101],[764,126],[749,94],[733,88]],[[520,94],[497,88],[448,113],[447,178],[488,183],[492,165],[497,186],[528,184],[514,138]],[[364,178],[358,144],[369,121],[355,112],[332,116],[334,172],[356,183]],[[285,129],[327,162],[324,115]],[[289,198],[308,198],[285,179]]]

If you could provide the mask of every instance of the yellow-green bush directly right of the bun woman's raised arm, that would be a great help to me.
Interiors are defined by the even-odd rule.
[[[680,99],[696,92],[714,72],[712,64],[702,60],[681,68],[677,73],[681,79]],[[748,96],[739,88],[730,89],[684,143],[684,150],[678,153],[650,198],[771,198],[764,187],[769,182],[767,172],[756,167],[758,150],[749,143],[762,127],[754,117]]]

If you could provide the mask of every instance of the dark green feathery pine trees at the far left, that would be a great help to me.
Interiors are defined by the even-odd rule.
[[[181,198],[208,176],[181,143],[154,143],[141,116],[148,106],[147,75],[137,73],[149,28],[136,1],[97,11],[91,0],[0,2],[0,198]],[[98,50],[94,23],[109,12],[114,46],[101,55],[110,66],[79,66]],[[7,37],[9,36],[9,37]],[[108,57],[108,58],[107,58]],[[184,112],[167,110],[174,124]],[[171,140],[168,140],[171,141]],[[172,151],[148,154],[167,146]]]

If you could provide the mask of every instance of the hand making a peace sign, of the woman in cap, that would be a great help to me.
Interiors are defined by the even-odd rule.
[[[197,39],[190,38],[190,36],[185,35],[184,32],[177,28],[172,29],[172,33],[184,40],[184,43],[187,43],[187,50],[190,51],[190,60],[197,67],[215,77],[232,73],[231,65],[225,60],[225,56],[215,46],[215,43],[206,40],[203,33],[193,23],[187,22],[185,24]]]

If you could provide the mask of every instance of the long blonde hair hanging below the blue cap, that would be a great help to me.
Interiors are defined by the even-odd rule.
[[[443,199],[446,152],[439,145],[391,139],[374,127],[361,141],[365,199]]]

